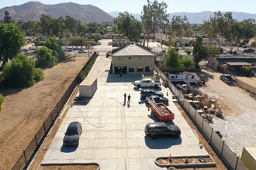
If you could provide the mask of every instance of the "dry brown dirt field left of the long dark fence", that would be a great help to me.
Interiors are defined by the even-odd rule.
[[[12,168],[87,61],[87,56],[77,56],[44,70],[44,79],[33,87],[2,90],[0,169]]]

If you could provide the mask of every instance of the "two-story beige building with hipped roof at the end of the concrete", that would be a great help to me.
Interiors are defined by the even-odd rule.
[[[155,54],[145,46],[129,44],[112,50],[112,73],[154,74]]]

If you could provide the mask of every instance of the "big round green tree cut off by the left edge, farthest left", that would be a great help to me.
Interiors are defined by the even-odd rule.
[[[0,24],[0,60],[2,69],[8,59],[12,59],[19,53],[21,46],[24,45],[25,35],[19,26],[14,24]]]

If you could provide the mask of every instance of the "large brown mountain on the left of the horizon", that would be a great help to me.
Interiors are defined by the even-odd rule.
[[[14,5],[0,9],[0,19],[8,11],[12,19],[39,20],[40,14],[51,15],[54,18],[69,15],[81,22],[112,22],[112,16],[93,5],[79,5],[72,2],[56,5],[44,5],[40,2],[27,2],[23,5]]]

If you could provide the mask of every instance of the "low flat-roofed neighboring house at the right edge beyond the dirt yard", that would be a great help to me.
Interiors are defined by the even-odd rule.
[[[216,71],[220,70],[221,67],[230,71],[239,71],[243,66],[256,66],[256,56],[210,57],[208,66]]]

